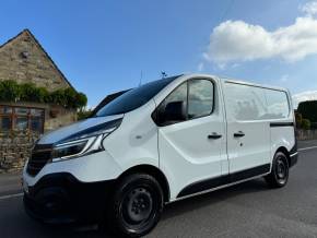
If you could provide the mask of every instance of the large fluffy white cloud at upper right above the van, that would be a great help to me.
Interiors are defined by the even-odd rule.
[[[305,4],[305,13],[317,12],[317,1]],[[244,21],[226,21],[213,28],[203,57],[218,66],[259,59],[303,60],[317,53],[317,20],[297,17],[294,24],[268,31]]]

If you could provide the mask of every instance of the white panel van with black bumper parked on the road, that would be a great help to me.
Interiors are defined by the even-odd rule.
[[[166,203],[258,177],[285,186],[294,123],[284,88],[206,74],[154,81],[45,134],[23,171],[25,209],[140,237]]]

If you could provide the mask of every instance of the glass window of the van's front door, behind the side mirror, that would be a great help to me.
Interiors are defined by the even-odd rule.
[[[160,126],[173,124],[210,115],[213,111],[214,85],[210,80],[189,80],[176,87],[156,109],[155,122]],[[168,106],[178,104],[174,111],[183,115],[173,115]],[[180,104],[184,106],[181,110]]]

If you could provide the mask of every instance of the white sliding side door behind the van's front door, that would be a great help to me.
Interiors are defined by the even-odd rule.
[[[265,88],[224,83],[231,181],[270,170],[270,121]]]

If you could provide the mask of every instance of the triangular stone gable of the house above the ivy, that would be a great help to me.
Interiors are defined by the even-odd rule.
[[[0,46],[0,80],[35,83],[48,91],[70,84],[30,31]]]

